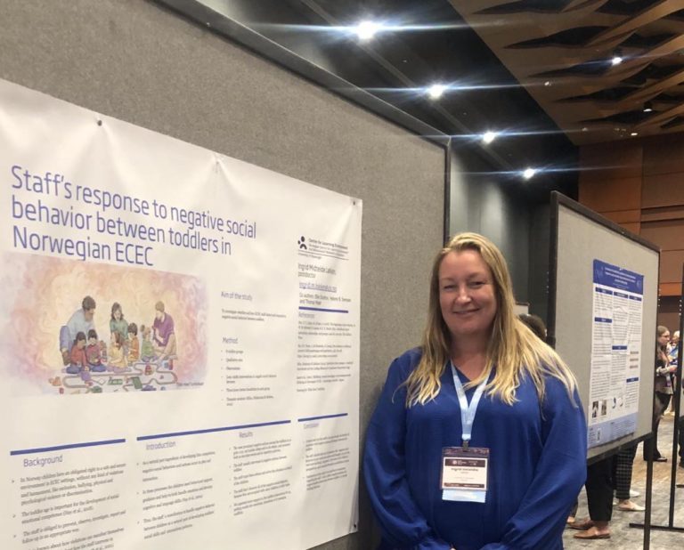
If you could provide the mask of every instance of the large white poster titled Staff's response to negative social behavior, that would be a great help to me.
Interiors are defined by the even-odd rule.
[[[0,547],[356,529],[359,200],[0,81]]]

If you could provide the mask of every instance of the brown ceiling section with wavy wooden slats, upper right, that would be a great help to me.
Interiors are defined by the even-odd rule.
[[[684,130],[684,0],[450,1],[575,144]]]

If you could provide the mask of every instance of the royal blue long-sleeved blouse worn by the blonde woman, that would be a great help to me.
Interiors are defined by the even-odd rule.
[[[542,406],[526,376],[512,406],[485,393],[470,442],[490,449],[485,503],[445,501],[442,449],[461,445],[459,400],[445,368],[436,399],[406,408],[400,386],[419,360],[419,349],[394,360],[366,437],[363,466],[382,530],[379,550],[562,549],[567,514],[586,477],[579,397],[575,406],[552,376]]]

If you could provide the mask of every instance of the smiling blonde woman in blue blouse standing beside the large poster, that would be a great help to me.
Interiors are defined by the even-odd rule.
[[[586,425],[574,376],[513,305],[489,240],[437,255],[423,344],[392,363],[368,429],[380,549],[563,547]]]

